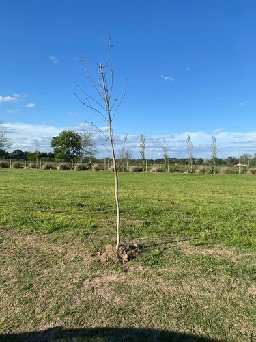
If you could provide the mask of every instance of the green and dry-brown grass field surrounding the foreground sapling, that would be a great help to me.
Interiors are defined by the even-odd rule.
[[[0,169],[0,341],[255,341],[256,177]]]

